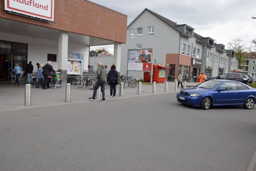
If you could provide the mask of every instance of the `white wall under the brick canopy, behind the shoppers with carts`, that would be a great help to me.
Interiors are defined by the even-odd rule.
[[[37,71],[36,63],[47,63],[47,54],[57,54],[57,62],[52,62],[54,70],[58,70],[58,41],[39,39],[29,36],[14,35],[0,32],[0,40],[27,43],[28,62],[32,61],[33,72]],[[88,69],[89,46],[68,43],[68,52],[84,54],[84,68]]]

